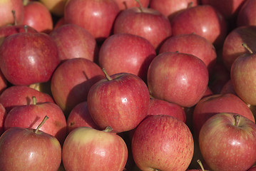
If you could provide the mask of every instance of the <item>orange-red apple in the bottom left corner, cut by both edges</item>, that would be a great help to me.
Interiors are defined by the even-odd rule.
[[[58,170],[61,165],[60,143],[52,135],[34,131],[10,128],[1,135],[0,170]]]

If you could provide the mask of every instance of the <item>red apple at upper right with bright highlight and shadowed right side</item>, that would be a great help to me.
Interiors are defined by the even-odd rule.
[[[181,11],[171,21],[173,36],[195,33],[208,39],[216,48],[222,47],[227,24],[213,6],[198,5]]]

